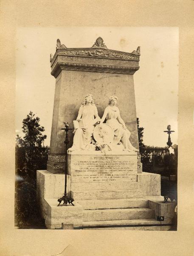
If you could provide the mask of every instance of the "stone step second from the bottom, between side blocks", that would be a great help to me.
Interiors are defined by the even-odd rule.
[[[149,208],[83,210],[83,221],[111,221],[154,218]]]

